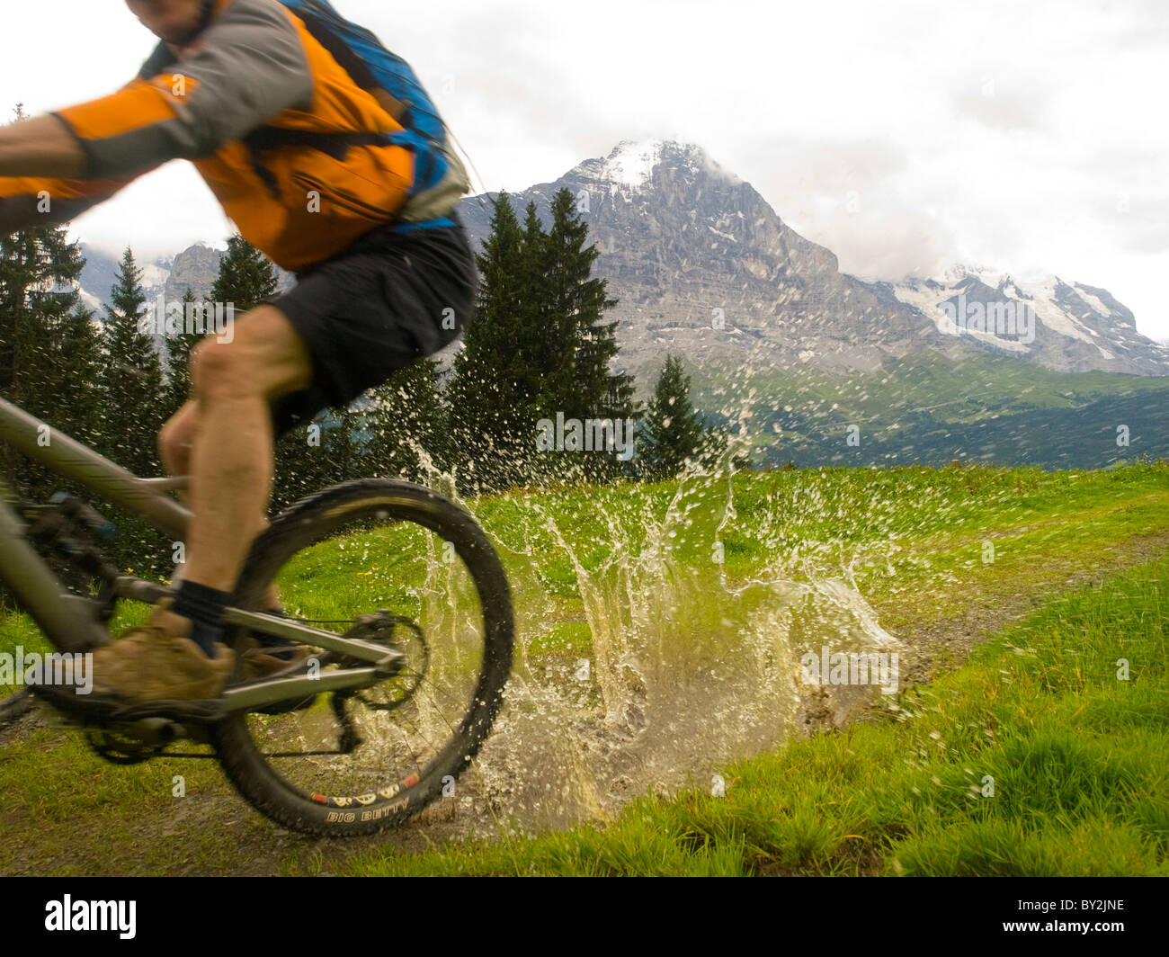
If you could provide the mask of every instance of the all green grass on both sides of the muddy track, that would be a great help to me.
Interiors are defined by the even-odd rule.
[[[1068,573],[1107,567],[1140,553],[1142,539],[1169,532],[1169,463],[1088,473],[809,469],[680,488],[512,493],[470,507],[513,584],[518,670],[595,656],[589,615],[597,603],[608,615],[601,624],[620,636],[636,599],[673,628],[673,650],[689,655],[698,674],[721,653],[727,610],[736,622],[749,614],[755,593],[732,590],[753,579],[850,569],[881,625],[898,633],[959,620],[980,604],[1046,600]],[[290,588],[321,618],[351,618],[394,600],[394,577],[378,558],[392,542],[374,541],[371,558],[369,541],[298,556]],[[983,560],[988,542],[992,562]],[[1169,712],[1158,670],[1165,610],[1150,580],[1050,604],[1007,643],[980,650],[961,673],[904,701],[912,720],[855,725],[727,769],[722,798],[707,796],[703,782],[673,801],[636,803],[606,831],[581,827],[420,858],[379,852],[348,867],[1150,873],[1163,867],[1169,827],[1158,777]],[[595,598],[586,600],[586,586]],[[1129,598],[1118,597],[1118,587],[1129,587]],[[145,613],[124,603],[115,632]],[[48,649],[26,617],[0,617],[0,652],[18,645]],[[1127,683],[1107,677],[1109,660],[1120,656],[1133,662]],[[177,773],[187,779],[186,801],[171,793]],[[967,797],[983,774],[995,777],[996,796]],[[242,805],[214,763],[113,767],[56,728],[0,750],[0,790],[7,801],[0,828],[32,835],[32,844],[0,847],[0,873],[36,858],[67,860],[54,867],[74,873],[233,873],[270,844],[271,825]],[[214,822],[224,817],[231,822],[221,829]],[[963,851],[975,846],[983,858]]]

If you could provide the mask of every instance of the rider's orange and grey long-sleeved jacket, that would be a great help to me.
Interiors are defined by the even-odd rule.
[[[77,137],[85,177],[0,178],[0,222],[65,222],[181,158],[283,269],[330,259],[387,222],[399,232],[454,225],[468,190],[462,165],[443,144],[434,181],[421,168],[433,158],[393,142],[404,128],[383,103],[289,7],[216,0],[178,55],[160,43],[118,92],[54,113]],[[37,215],[46,195],[49,212]]]

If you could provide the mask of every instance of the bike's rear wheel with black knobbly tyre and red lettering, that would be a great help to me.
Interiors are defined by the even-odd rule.
[[[243,797],[290,828],[352,836],[452,793],[503,704],[512,660],[507,579],[476,521],[408,482],[334,486],[256,541],[234,604],[262,610],[272,585],[290,618],[396,647],[407,663],[367,689],[221,723],[220,760]],[[237,654],[248,647],[242,629],[231,641]],[[345,667],[314,657],[321,674]]]

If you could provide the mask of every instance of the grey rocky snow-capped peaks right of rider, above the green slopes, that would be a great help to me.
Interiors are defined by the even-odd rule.
[[[561,187],[577,197],[601,252],[596,273],[620,300],[611,315],[621,319],[622,362],[635,371],[665,347],[696,365],[831,372],[874,372],[928,349],[952,359],[989,351],[1060,372],[1169,374],[1169,350],[1137,333],[1132,312],[1102,289],[1054,277],[989,285],[962,273],[872,283],[841,273],[829,249],[791,229],[698,146],[625,140],[516,193],[512,204],[523,219],[534,201],[547,222]],[[463,201],[476,239],[489,233],[493,199]],[[969,315],[959,316],[960,305]]]

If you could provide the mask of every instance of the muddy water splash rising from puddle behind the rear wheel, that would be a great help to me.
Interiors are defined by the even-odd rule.
[[[485,511],[416,452],[436,488]],[[648,791],[708,787],[731,762],[879,697],[802,680],[809,650],[904,652],[845,550],[793,546],[765,515],[753,526],[762,569],[728,571],[731,480],[725,468],[691,469],[665,491],[613,486],[493,503],[484,525],[513,587],[516,663],[507,707],[468,776],[464,824],[530,833],[606,819]],[[805,489],[801,504],[826,510],[818,497]]]

